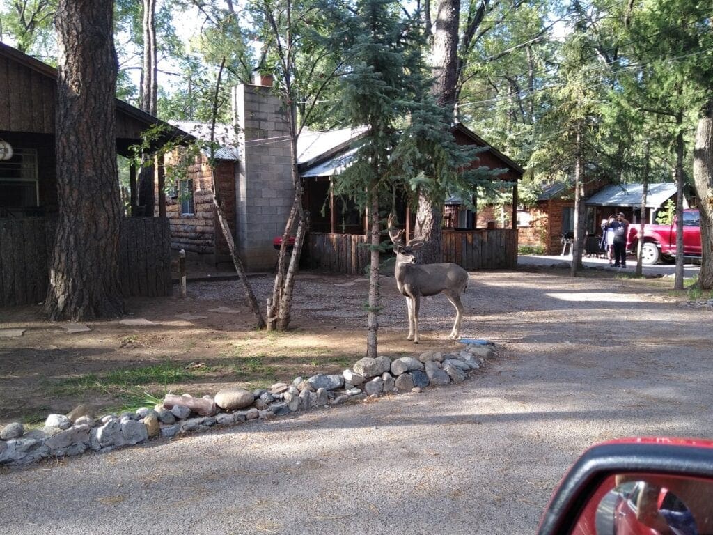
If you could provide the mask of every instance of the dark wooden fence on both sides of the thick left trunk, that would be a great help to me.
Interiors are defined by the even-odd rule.
[[[0,219],[0,306],[47,295],[56,220]],[[122,218],[119,277],[123,295],[171,295],[170,234],[165,218]]]

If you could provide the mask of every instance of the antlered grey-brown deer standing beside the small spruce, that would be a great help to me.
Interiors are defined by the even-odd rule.
[[[468,286],[468,272],[458,264],[416,264],[414,253],[424,246],[424,240],[412,239],[404,243],[404,231],[394,231],[394,214],[389,214],[386,228],[394,244],[396,253],[396,287],[406,297],[406,309],[409,312],[409,336],[407,340],[419,343],[419,307],[421,297],[442,293],[456,308],[456,322],[448,338],[456,340],[461,335],[463,303],[461,294]]]

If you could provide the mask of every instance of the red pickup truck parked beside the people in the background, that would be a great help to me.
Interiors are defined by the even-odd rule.
[[[627,250],[636,251],[639,244],[639,225],[629,225]],[[683,254],[701,256],[701,227],[698,210],[683,211]],[[662,258],[676,255],[676,220],[671,225],[644,225],[644,243],[641,260],[645,265],[654,265]]]

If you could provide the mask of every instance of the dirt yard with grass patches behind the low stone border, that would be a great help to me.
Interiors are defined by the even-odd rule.
[[[532,268],[524,272],[471,273],[466,296],[464,336],[478,337],[478,318],[506,310],[537,310],[551,277],[568,272]],[[523,275],[524,274],[524,275]],[[590,277],[612,278],[611,272],[590,270]],[[483,298],[488,287],[532,285],[529,302]],[[264,303],[272,289],[272,276],[249,277]],[[555,283],[559,284],[559,282]],[[291,330],[265,333],[254,329],[236,280],[191,282],[188,297],[133,298],[126,301],[125,319],[144,318],[155,325],[131,326],[118,321],[89,322],[89,332],[67,334],[59,323],[43,320],[41,307],[16,307],[0,311],[0,328],[23,327],[21,337],[0,338],[0,425],[24,420],[42,422],[51,412],[68,412],[81,402],[91,403],[97,414],[138,405],[144,393],[163,397],[167,392],[194,396],[215,394],[240,384],[265,387],[318,372],[342,372],[364,356],[368,282],[345,277],[302,272],[292,307]],[[619,281],[622,292],[649,292],[652,299],[671,300],[670,282]],[[513,299],[515,294],[513,294]],[[406,340],[406,305],[397,294],[393,278],[381,283],[384,311],[380,316],[379,354],[389,357],[426,350],[456,350],[446,339],[453,308],[445,297],[427,298],[421,306],[421,343]],[[233,311],[214,312],[217,307]],[[177,315],[202,316],[185,320]],[[542,317],[543,322],[548,318]],[[481,333],[482,335],[482,333]],[[507,340],[497,340],[507,347]]]

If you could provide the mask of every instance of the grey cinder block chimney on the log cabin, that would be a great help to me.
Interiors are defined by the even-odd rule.
[[[248,271],[272,270],[294,199],[287,109],[272,76],[233,88],[240,162],[235,178],[236,247]],[[257,83],[260,85],[257,85]]]

